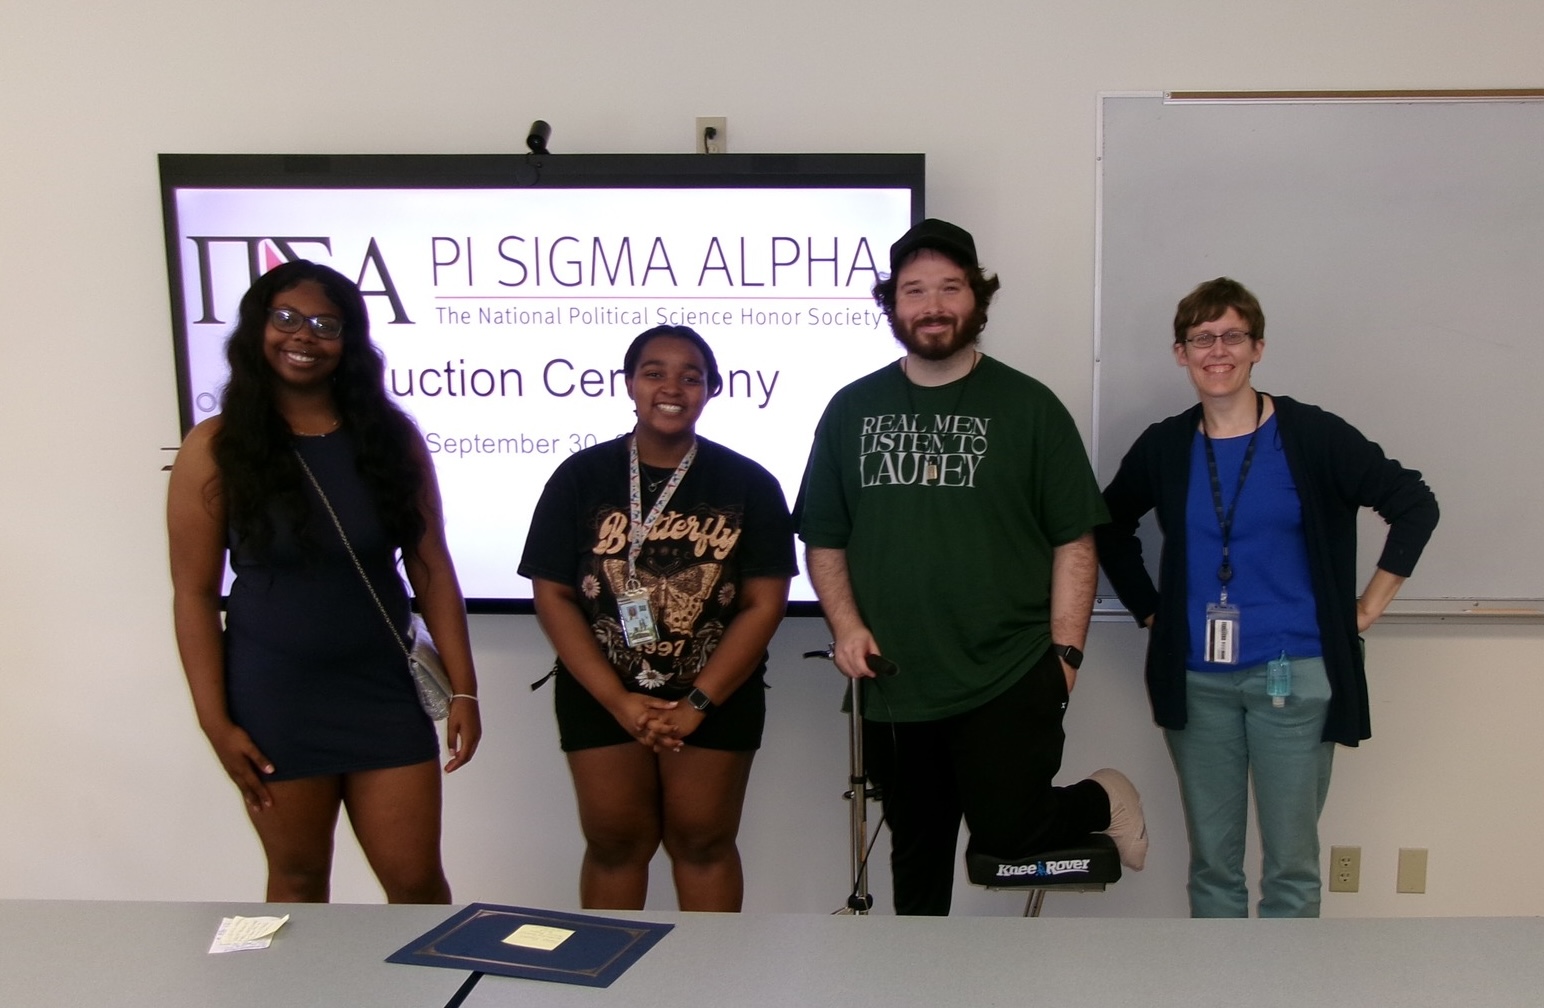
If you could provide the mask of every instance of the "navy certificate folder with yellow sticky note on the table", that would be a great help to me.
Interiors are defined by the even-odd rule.
[[[610,986],[672,928],[675,925],[472,903],[388,956],[386,962]],[[548,929],[573,934],[554,948],[533,948],[530,939],[520,937],[556,937]],[[508,940],[511,935],[516,943]]]

